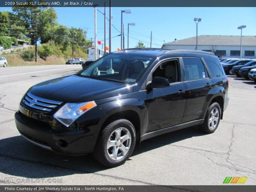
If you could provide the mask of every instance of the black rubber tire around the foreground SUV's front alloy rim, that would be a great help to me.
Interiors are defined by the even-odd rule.
[[[114,149],[116,150],[116,148],[118,148],[117,153],[120,151],[121,154],[119,153],[119,155],[121,155],[121,156],[122,156],[123,152],[117,146],[108,149],[107,144],[108,144],[108,140],[111,138],[114,131],[116,131],[120,128],[124,128],[130,132],[130,135],[131,135],[131,139],[129,140],[129,142],[131,142],[130,148],[128,149],[127,153],[123,157],[121,157],[120,159],[117,159],[117,160],[113,160],[109,156],[109,150],[114,150]],[[120,140],[120,142],[121,141],[122,140]],[[125,142],[127,145],[128,140],[124,141],[124,143],[122,143],[124,146],[125,146]],[[119,166],[121,164],[124,164],[125,161],[132,155],[135,144],[136,144],[136,132],[135,132],[135,128],[134,128],[133,124],[126,119],[119,119],[119,120],[116,120],[116,121],[110,123],[108,126],[106,126],[100,132],[98,141],[96,143],[96,146],[95,146],[95,149],[94,149],[92,155],[95,158],[95,160],[97,160],[100,164],[103,164],[107,167]],[[116,143],[115,143],[115,145],[116,145]]]

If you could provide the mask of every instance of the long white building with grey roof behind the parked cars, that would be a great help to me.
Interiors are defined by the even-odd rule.
[[[219,57],[240,58],[241,36],[200,35],[197,37],[197,50],[209,51]],[[175,40],[162,45],[164,49],[196,48],[196,37]],[[242,36],[242,58],[256,59],[256,36]]]

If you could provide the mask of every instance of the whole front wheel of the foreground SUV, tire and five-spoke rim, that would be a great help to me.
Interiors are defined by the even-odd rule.
[[[93,156],[99,163],[108,167],[124,164],[132,155],[136,143],[135,128],[126,119],[110,123],[98,138]]]

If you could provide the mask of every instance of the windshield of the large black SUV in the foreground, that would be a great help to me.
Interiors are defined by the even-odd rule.
[[[153,59],[151,56],[108,54],[85,68],[78,76],[135,83]]]

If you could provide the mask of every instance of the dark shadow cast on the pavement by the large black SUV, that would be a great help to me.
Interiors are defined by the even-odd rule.
[[[166,133],[136,145],[132,156],[160,148],[180,140],[203,136],[198,126]],[[25,178],[52,178],[94,173],[108,169],[86,156],[65,156],[37,147],[22,136],[0,140],[0,172]],[[132,160],[132,156],[128,159]],[[118,169],[118,168],[117,168]]]

